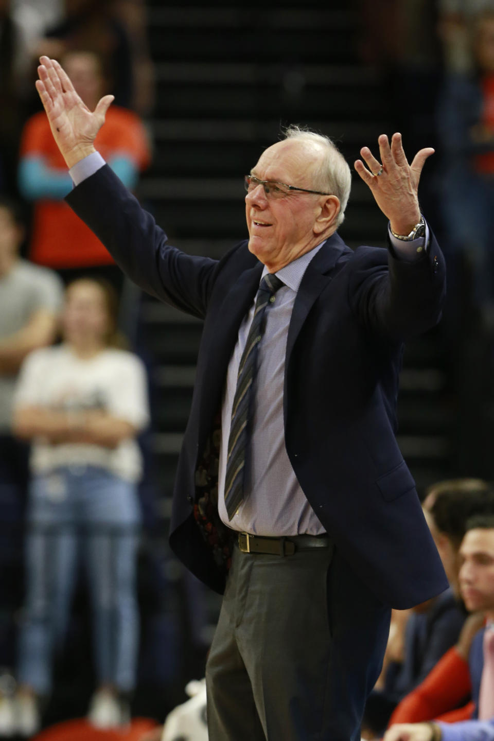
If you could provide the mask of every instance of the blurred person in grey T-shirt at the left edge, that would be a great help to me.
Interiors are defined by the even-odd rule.
[[[27,486],[27,446],[13,437],[11,429],[13,392],[27,353],[55,339],[63,290],[56,273],[19,257],[23,239],[18,205],[0,196],[0,665],[4,667],[13,664]],[[0,692],[0,732],[5,712]]]

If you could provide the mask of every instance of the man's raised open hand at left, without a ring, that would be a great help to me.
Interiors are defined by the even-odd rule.
[[[67,73],[56,59],[41,56],[36,90],[47,113],[56,144],[67,167],[95,151],[94,140],[114,96],[101,98],[93,113],[74,90]]]

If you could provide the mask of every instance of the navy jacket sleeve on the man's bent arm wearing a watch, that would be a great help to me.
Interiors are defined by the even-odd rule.
[[[438,323],[446,267],[432,231],[427,249],[414,262],[399,259],[391,244],[387,253],[358,247],[351,262],[350,305],[367,330],[401,340]]]

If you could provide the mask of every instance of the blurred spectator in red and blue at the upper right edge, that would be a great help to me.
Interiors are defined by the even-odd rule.
[[[494,333],[494,10],[473,26],[471,72],[447,74],[438,105],[443,150],[442,210],[449,291],[464,290],[463,265],[484,326]],[[451,305],[452,302],[450,302]]]

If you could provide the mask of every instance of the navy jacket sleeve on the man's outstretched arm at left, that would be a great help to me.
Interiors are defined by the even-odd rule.
[[[153,216],[108,165],[75,187],[66,201],[140,288],[204,319],[218,262],[169,245]]]

